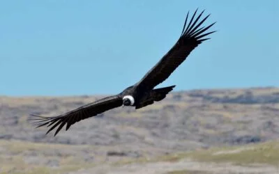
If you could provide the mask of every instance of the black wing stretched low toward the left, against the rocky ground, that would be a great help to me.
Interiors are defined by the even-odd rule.
[[[47,134],[52,131],[55,127],[56,132],[54,136],[62,129],[64,125],[66,125],[66,131],[70,128],[71,125],[75,124],[75,122],[79,122],[80,120],[84,120],[85,118],[96,116],[99,113],[103,113],[104,111],[119,107],[122,105],[122,98],[119,95],[114,95],[110,97],[105,97],[101,100],[97,100],[96,102],[92,102],[90,104],[86,104],[81,106],[73,111],[69,111],[60,116],[54,117],[43,117],[31,115],[32,118],[29,120],[35,120],[39,124],[37,127],[47,126],[50,129],[47,131]],[[36,127],[36,128],[37,128]]]

